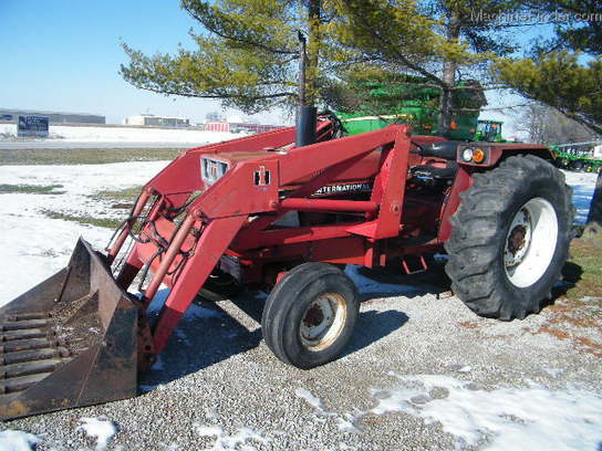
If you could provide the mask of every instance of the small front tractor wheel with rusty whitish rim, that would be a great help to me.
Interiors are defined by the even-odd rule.
[[[357,290],[340,269],[303,263],[268,296],[261,317],[263,338],[280,360],[313,368],[341,355],[359,311]]]

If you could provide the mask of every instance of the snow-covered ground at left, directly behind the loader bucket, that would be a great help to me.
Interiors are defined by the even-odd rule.
[[[1,183],[60,186],[49,195],[0,195],[0,248],[7,262],[2,275],[10,281],[0,286],[0,305],[63,268],[80,235],[95,249],[104,249],[113,233],[107,228],[49,218],[45,210],[74,217],[122,216],[125,210],[112,209],[110,201],[94,199],[94,193],[143,185],[166,165],[0,166]]]

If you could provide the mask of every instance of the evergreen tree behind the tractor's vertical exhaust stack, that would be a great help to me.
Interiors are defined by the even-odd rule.
[[[124,44],[123,77],[136,87],[167,95],[218,98],[246,113],[290,103],[295,96],[297,31],[310,34],[310,78],[319,59],[320,0],[183,0],[203,31],[190,31],[196,50],[152,56]],[[314,90],[309,90],[311,93]]]

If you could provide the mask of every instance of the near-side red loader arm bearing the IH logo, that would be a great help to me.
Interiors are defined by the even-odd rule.
[[[383,151],[382,161],[384,170],[377,182],[380,189],[375,191],[371,202],[339,201],[328,207],[343,211],[353,211],[355,208],[366,213],[378,211],[377,216],[353,224],[356,229],[349,226],[331,227],[330,233],[322,237],[394,237],[399,230],[405,182],[405,177],[399,175],[407,170],[409,150],[405,126],[291,148],[287,153],[262,151],[255,158],[238,162],[187,204],[185,218],[179,226],[169,217],[172,203],[159,196],[141,231],[145,239],[135,243],[117,276],[121,287],[126,290],[139,270],[150,270],[153,277],[143,291],[145,305],[150,303],[162,283],[172,289],[153,331],[155,352],[160,353],[165,348],[177,322],[214,271],[218,260],[235,241],[239,248],[249,241],[256,241],[255,247],[263,244],[264,237],[258,235],[262,230],[253,227],[256,221],[261,220],[262,214],[269,213],[270,218],[262,222],[261,229],[266,229],[286,211],[309,208],[303,204],[307,199],[299,198],[295,193],[280,198],[279,192],[283,186],[313,176],[305,183],[305,191],[308,188],[315,191],[329,181],[329,177],[321,175],[329,174],[333,177],[336,172],[333,168],[344,167],[347,161],[380,148],[386,149]],[[200,151],[197,158],[204,155],[206,154]],[[193,167],[195,169],[196,166]],[[164,177],[168,175],[168,171],[163,174]],[[156,180],[163,182],[160,175]],[[297,193],[302,191],[301,188]],[[295,200],[295,204],[291,203]],[[322,208],[318,200],[311,202]],[[249,223],[250,216],[255,218]],[[314,238],[319,238],[324,229],[329,228],[314,228],[311,232]],[[288,230],[287,233],[302,237],[303,229]],[[276,239],[281,240],[278,237]],[[110,254],[117,252],[114,248]]]

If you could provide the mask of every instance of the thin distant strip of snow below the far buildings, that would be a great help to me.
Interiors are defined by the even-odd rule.
[[[12,139],[17,136],[15,124],[0,124],[0,135]],[[95,126],[64,126],[51,125],[49,139],[32,141],[93,141],[93,143],[175,143],[196,144],[217,143],[232,139],[239,134],[222,132],[204,132],[188,128],[144,128],[144,127],[95,127]]]

